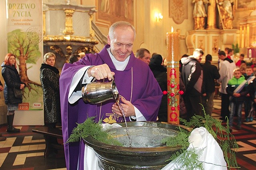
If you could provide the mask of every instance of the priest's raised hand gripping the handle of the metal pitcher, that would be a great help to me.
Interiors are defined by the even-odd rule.
[[[112,80],[111,74],[114,76],[115,73],[110,71],[110,68],[107,64],[102,64],[98,66],[93,66],[87,71],[88,76],[95,77],[97,80],[101,80],[104,78],[108,78],[108,80]]]

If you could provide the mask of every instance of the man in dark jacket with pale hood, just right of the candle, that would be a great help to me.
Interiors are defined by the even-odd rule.
[[[204,52],[201,49],[195,49],[193,55],[183,57],[182,63],[182,81],[185,84],[184,102],[187,110],[187,120],[196,115],[202,115],[202,83],[203,70],[199,63]]]

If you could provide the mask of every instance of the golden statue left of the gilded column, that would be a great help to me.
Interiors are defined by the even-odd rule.
[[[204,4],[210,5],[208,0],[192,0],[194,4],[193,16],[195,21],[195,29],[204,29],[205,18],[207,17]]]

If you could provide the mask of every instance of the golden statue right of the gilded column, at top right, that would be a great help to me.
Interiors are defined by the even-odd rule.
[[[219,7],[220,19],[222,20],[223,29],[233,29],[233,5],[234,0],[217,0]]]

